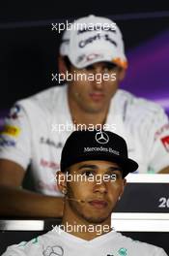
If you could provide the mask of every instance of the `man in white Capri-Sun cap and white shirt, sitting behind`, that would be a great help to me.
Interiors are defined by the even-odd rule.
[[[127,57],[117,24],[98,16],[75,20],[63,35],[59,69],[53,80],[66,78],[64,86],[18,101],[6,119],[0,144],[1,215],[62,216],[54,176],[74,128],[114,131],[126,139],[130,157],[139,163],[137,173],[169,173],[166,114],[118,89]],[[38,193],[19,188],[28,166]]]

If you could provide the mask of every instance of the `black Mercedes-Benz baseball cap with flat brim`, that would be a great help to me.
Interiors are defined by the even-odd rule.
[[[88,160],[117,163],[122,168],[124,177],[138,168],[138,164],[128,158],[127,143],[119,135],[104,130],[72,132],[62,150],[61,172],[65,172],[73,164]]]

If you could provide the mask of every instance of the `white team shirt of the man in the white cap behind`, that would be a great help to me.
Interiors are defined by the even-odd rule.
[[[61,196],[55,174],[63,145],[73,131],[67,89],[67,85],[55,86],[18,101],[0,140],[0,158],[25,170],[30,165],[37,191],[47,195]],[[155,103],[119,89],[104,127],[127,141],[129,157],[139,164],[137,173],[157,173],[169,166],[168,117]]]

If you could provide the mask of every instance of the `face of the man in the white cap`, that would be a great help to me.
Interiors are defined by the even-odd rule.
[[[71,66],[69,72],[80,78],[70,81],[70,100],[82,111],[91,113],[108,109],[110,100],[115,95],[119,82],[123,80],[124,76],[124,71],[121,68],[108,62],[99,62],[84,69],[76,69]],[[83,75],[82,80],[81,75]]]

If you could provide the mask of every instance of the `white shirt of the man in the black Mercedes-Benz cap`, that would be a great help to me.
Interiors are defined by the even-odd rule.
[[[94,240],[82,240],[55,227],[31,241],[7,248],[2,256],[167,256],[162,248],[131,240],[114,231]]]

